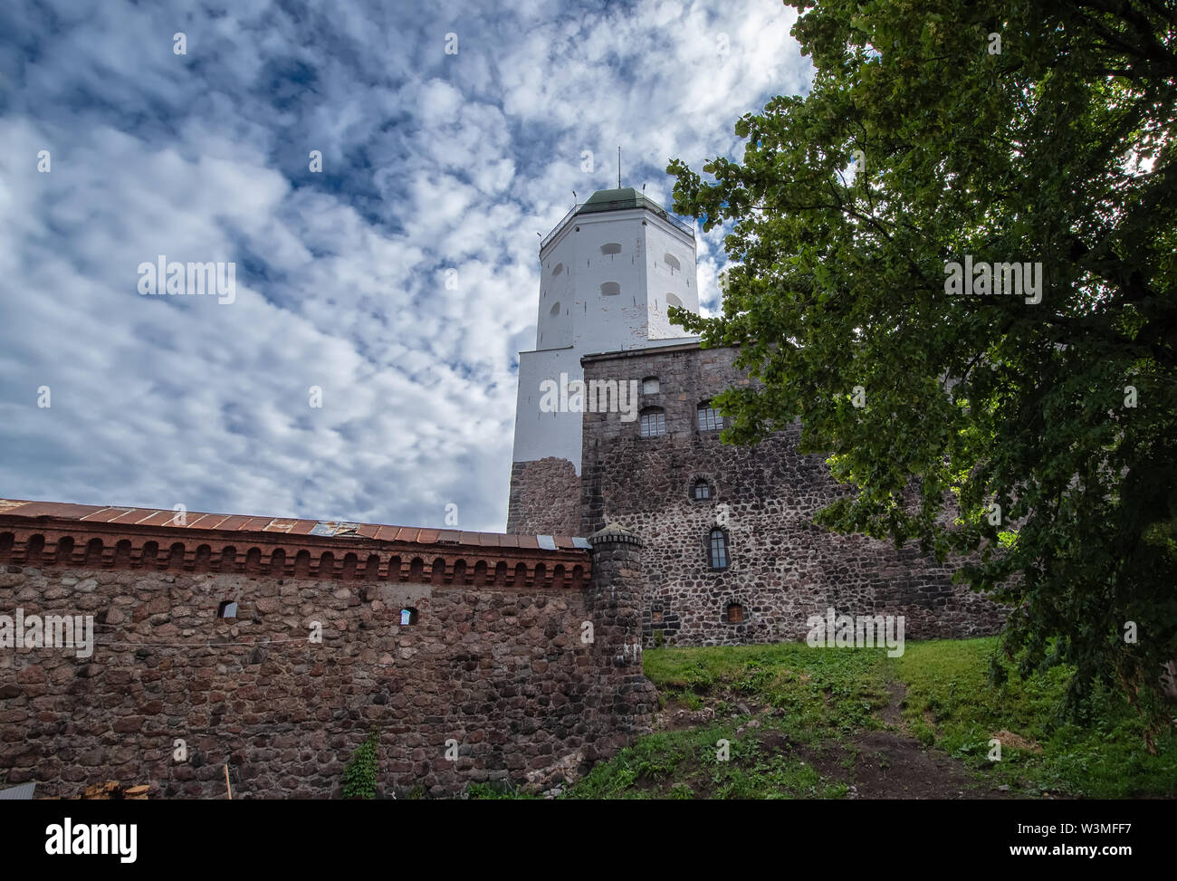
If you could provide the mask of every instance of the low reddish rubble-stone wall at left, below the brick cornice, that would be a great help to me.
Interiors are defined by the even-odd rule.
[[[153,797],[221,799],[227,764],[234,799],[338,797],[374,729],[386,796],[453,795],[573,777],[650,728],[630,538],[598,537],[596,562],[517,551],[517,564],[488,567],[453,549],[433,559],[370,544],[359,556],[380,558],[372,577],[363,563],[346,577],[330,559],[317,574],[297,565],[293,547],[288,569],[264,544],[224,547],[248,547],[240,534],[206,531],[157,557],[75,528],[46,541],[40,524],[0,523],[0,615],[93,615],[98,643],[89,657],[0,648],[0,788],[36,781],[40,796],[72,795],[120,780],[149,783]],[[250,558],[254,571],[237,571]],[[235,620],[218,618],[224,601],[239,604]],[[403,608],[415,623],[401,625]]]

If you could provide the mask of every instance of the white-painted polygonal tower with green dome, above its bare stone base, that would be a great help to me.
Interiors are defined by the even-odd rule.
[[[519,353],[512,461],[567,459],[579,475],[581,413],[545,412],[544,383],[583,379],[586,355],[697,339],[667,317],[671,305],[699,311],[694,231],[636,190],[601,190],[540,243],[539,263],[536,351]]]

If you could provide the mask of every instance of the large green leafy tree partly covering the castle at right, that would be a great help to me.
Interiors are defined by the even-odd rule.
[[[677,211],[732,224],[722,314],[673,312],[760,380],[718,398],[724,439],[800,417],[857,488],[823,523],[969,555],[1012,608],[1004,650],[1075,665],[1080,716],[1124,689],[1152,749],[1177,656],[1177,9],[791,5],[810,92],[739,119],[710,181],[667,170]],[[1040,287],[950,293],[966,258]]]

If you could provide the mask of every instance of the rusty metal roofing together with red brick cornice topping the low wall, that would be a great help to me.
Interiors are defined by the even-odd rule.
[[[583,539],[545,538],[0,499],[0,563],[39,567],[488,588],[587,584],[592,555]]]

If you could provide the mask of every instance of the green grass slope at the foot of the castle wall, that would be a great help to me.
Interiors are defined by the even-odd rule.
[[[566,799],[820,799],[844,797],[846,784],[819,773],[853,768],[853,735],[884,727],[877,711],[886,684],[906,685],[906,734],[959,759],[978,784],[1029,795],[1080,797],[1177,795],[1177,740],[1144,748],[1143,729],[1126,703],[1102,694],[1086,727],[1056,717],[1069,673],[1052,670],[993,687],[986,671],[995,640],[909,642],[899,658],[884,650],[778,645],[652,649],[645,673],[664,703],[716,709],[703,727],[639,738],[570,787]],[[751,715],[760,727],[736,733]],[[738,714],[731,718],[731,714]],[[1030,749],[1003,743],[989,760],[990,738],[1010,731]],[[718,761],[717,741],[730,741]],[[784,746],[782,746],[784,743]],[[1040,751],[1032,751],[1033,744]]]

